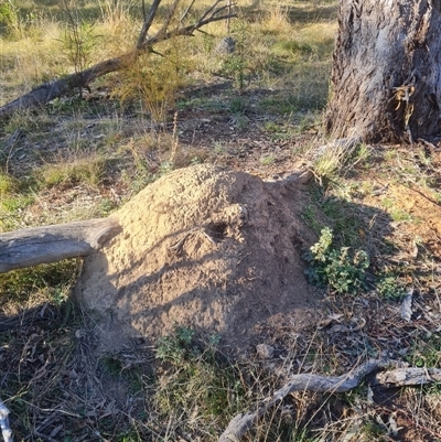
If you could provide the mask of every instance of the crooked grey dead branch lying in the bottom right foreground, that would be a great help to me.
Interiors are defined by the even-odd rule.
[[[369,359],[353,371],[342,376],[321,376],[314,374],[293,375],[292,379],[277,390],[272,397],[262,400],[256,411],[237,414],[220,434],[218,442],[238,442],[251,429],[255,422],[268,410],[280,403],[293,391],[343,392],[357,387],[369,374],[396,366],[398,368],[377,374],[372,384],[385,386],[413,386],[441,380],[441,369],[406,368],[404,363],[396,360]]]

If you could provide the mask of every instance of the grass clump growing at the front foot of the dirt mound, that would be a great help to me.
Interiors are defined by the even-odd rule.
[[[160,418],[179,417],[186,431],[204,429],[215,435],[245,408],[240,371],[220,354],[217,342],[216,336],[204,342],[187,327],[160,339],[157,358],[168,367],[154,395]]]

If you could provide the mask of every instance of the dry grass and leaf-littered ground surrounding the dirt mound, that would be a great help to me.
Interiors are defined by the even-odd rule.
[[[138,2],[121,0],[42,3],[0,1],[1,105],[75,64],[126,51],[142,14]],[[250,348],[237,360],[216,336],[191,327],[154,346],[139,339],[97,353],[89,317],[69,297],[79,261],[1,274],[0,398],[17,440],[214,441],[292,374],[342,375],[370,357],[441,368],[441,147],[327,143],[321,116],[335,2],[244,0],[236,12],[232,54],[216,50],[226,23],[213,23],[83,97],[3,123],[0,231],[106,216],[193,164],[273,181],[304,169],[313,175],[301,209],[310,245],[327,226],[336,250],[365,250],[365,287],[318,291],[310,326],[265,327],[271,358]],[[80,60],[72,26],[84,43]],[[244,440],[439,441],[440,409],[439,385],[294,392]]]

